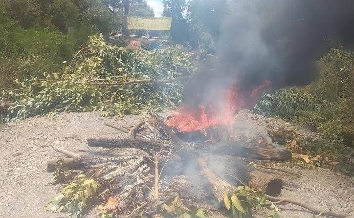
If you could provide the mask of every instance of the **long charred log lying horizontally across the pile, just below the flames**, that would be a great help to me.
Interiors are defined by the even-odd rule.
[[[178,140],[171,144],[161,140],[140,140],[140,139],[120,139],[120,138],[88,138],[89,147],[102,148],[136,148],[143,151],[160,151],[161,149],[171,149],[175,146],[175,150],[183,148],[189,153],[215,153],[227,154],[233,156],[242,156],[257,160],[288,160],[291,158],[291,153],[287,150],[276,149],[272,146],[252,146],[231,143],[199,143],[199,142],[183,142]],[[177,146],[176,146],[177,145]],[[178,148],[178,149],[177,149]]]

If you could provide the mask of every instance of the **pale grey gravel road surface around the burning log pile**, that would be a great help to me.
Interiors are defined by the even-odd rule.
[[[89,137],[124,137],[119,131],[108,128],[105,122],[125,124],[118,117],[102,117],[100,112],[62,113],[56,116],[29,118],[9,123],[0,130],[0,217],[60,218],[65,214],[43,211],[43,206],[60,192],[59,185],[49,185],[52,174],[46,171],[46,160],[60,158],[62,154],[51,149],[60,145],[81,154],[100,151],[89,148]],[[124,119],[135,124],[147,115],[131,115]],[[269,119],[249,111],[238,115],[239,131],[264,132],[266,126],[293,129],[300,135],[315,137],[303,126],[278,119]],[[290,168],[289,163],[273,163],[277,167],[302,174],[301,177],[281,174],[287,183],[281,197],[291,198],[337,211],[353,213],[354,180],[348,176],[320,168],[311,170]],[[279,205],[282,218],[311,218],[309,211],[295,205]],[[269,211],[258,212],[266,217]],[[88,211],[94,218],[97,211]],[[220,217],[213,214],[212,217]]]

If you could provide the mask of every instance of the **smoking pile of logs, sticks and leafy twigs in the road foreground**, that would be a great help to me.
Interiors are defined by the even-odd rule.
[[[277,218],[277,201],[295,203],[317,214],[323,211],[272,197],[280,194],[282,180],[246,160],[287,160],[291,155],[265,140],[256,140],[258,144],[183,140],[152,111],[148,121],[141,121],[131,129],[106,126],[128,134],[126,138],[88,138],[89,147],[118,150],[110,156],[82,156],[53,146],[66,158],[48,160],[48,172],[55,172],[53,182],[71,179],[71,184],[48,204],[51,210],[81,216],[88,201],[95,204],[94,200],[99,198],[105,202],[99,206],[102,218],[208,217],[203,207],[220,209],[233,218],[251,217],[252,210],[268,207],[276,212],[274,218]],[[85,176],[69,174],[68,169],[76,169]],[[333,211],[323,214],[347,216]]]

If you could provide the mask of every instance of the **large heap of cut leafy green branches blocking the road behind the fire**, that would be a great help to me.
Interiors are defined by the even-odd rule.
[[[181,83],[158,81],[193,72],[194,66],[181,46],[134,52],[93,36],[64,72],[18,81],[21,88],[5,92],[5,98],[17,104],[6,120],[48,112],[100,110],[113,115],[174,107],[181,100]],[[144,79],[153,82],[130,83]]]

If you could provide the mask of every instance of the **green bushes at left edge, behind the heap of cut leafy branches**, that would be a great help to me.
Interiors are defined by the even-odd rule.
[[[0,88],[12,88],[14,80],[43,77],[58,72],[70,61],[92,28],[81,26],[68,34],[34,27],[24,29],[0,13]]]

